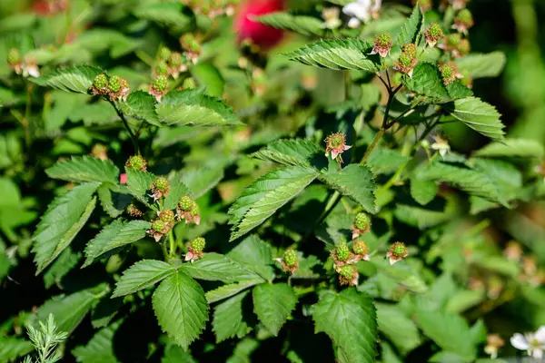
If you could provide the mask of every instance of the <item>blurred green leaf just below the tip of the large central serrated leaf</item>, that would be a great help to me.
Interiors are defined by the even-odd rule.
[[[272,247],[255,235],[246,237],[227,253],[227,257],[245,269],[257,273],[264,280],[274,279],[274,270],[271,266]]]

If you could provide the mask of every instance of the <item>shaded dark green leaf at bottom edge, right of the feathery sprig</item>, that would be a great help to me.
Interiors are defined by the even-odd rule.
[[[121,321],[116,321],[107,328],[100,329],[87,344],[72,350],[75,359],[81,363],[117,363],[114,352],[114,334]]]

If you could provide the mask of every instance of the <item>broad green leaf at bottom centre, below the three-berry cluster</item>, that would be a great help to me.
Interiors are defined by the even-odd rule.
[[[372,363],[376,355],[377,319],[372,299],[355,289],[327,290],[312,306],[315,331],[323,331],[342,350],[345,361]]]

